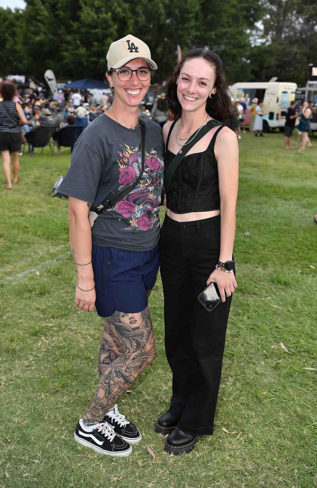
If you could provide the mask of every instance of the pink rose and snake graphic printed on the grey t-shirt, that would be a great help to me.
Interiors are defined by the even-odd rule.
[[[118,150],[119,188],[118,193],[139,177],[141,168],[141,154],[139,147],[130,147],[124,144]],[[163,162],[159,159],[157,151],[145,150],[144,172],[141,180],[131,193],[120,200],[115,210],[125,218],[125,230],[129,227],[141,231],[158,225],[158,205],[162,191]]]

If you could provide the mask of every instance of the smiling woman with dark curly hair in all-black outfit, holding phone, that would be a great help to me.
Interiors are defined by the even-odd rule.
[[[167,82],[165,100],[175,116],[163,127],[167,210],[160,234],[165,348],[173,386],[170,407],[155,430],[169,434],[164,449],[177,455],[213,433],[226,326],[237,287],[238,143],[226,125],[236,114],[222,63],[208,48],[185,54]],[[204,135],[198,137],[199,132]],[[189,145],[194,138],[197,142]],[[169,167],[182,152],[187,154],[167,188]],[[208,311],[198,295],[212,282],[221,302]]]

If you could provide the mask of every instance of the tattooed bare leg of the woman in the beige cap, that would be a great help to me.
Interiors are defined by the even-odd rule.
[[[103,321],[99,349],[99,384],[83,417],[93,425],[104,417],[155,355],[155,340],[149,308],[142,312],[115,312]]]

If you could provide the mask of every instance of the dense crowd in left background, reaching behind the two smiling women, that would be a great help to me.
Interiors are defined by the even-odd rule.
[[[25,134],[36,129],[40,125],[55,126],[56,132],[53,139],[59,146],[59,129],[68,125],[75,125],[76,119],[83,127],[93,122],[100,114],[109,110],[114,97],[108,96],[103,91],[98,102],[97,98],[89,90],[58,90],[52,95],[49,90],[34,81],[29,81],[29,86],[16,87],[12,80],[2,80],[0,83],[0,131],[6,133],[6,139],[12,139],[12,144],[4,141],[1,149],[3,172],[6,178],[6,189],[12,189],[10,172],[10,153],[13,166],[13,182],[19,181],[19,156],[21,143],[26,143]],[[9,109],[11,107],[11,109]],[[159,109],[158,102],[142,101],[139,105],[139,117],[150,119],[163,124],[167,120],[166,113]],[[0,134],[3,138],[4,134]],[[14,138],[14,141],[13,141]],[[33,146],[28,143],[28,151],[33,152]]]

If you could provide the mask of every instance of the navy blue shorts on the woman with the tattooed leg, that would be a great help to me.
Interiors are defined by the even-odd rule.
[[[124,251],[93,244],[92,261],[100,317],[116,311],[137,313],[147,307],[146,292],[158,274],[158,245],[151,251]]]

